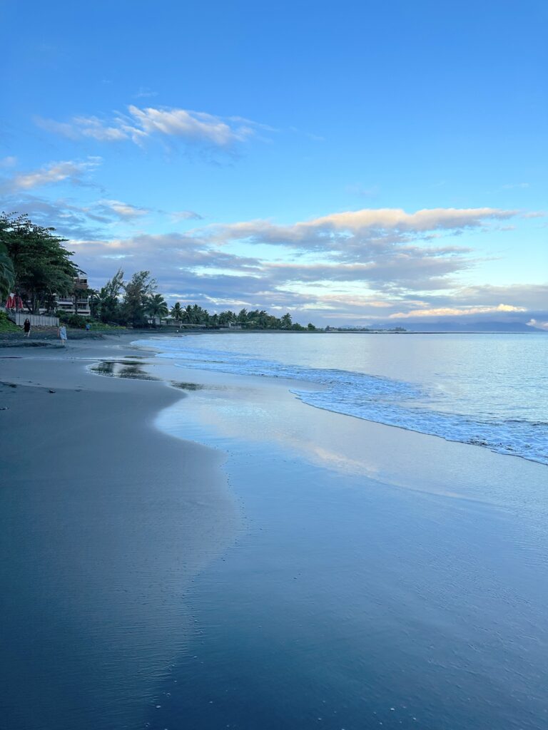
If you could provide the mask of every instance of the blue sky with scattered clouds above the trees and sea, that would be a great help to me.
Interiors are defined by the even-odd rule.
[[[92,285],[548,322],[546,4],[72,6],[0,3],[0,194]]]

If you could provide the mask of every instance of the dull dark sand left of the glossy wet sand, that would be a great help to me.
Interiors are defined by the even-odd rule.
[[[0,350],[2,728],[126,727],[238,529],[220,453],[153,427],[183,394],[86,371],[131,339]]]

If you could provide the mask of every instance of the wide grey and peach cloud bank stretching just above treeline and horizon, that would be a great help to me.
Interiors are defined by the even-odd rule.
[[[473,251],[438,238],[467,228],[481,231],[490,221],[519,215],[515,211],[361,210],[289,226],[241,221],[131,236],[127,226],[141,225],[148,214],[177,221],[199,216],[189,210],[148,210],[106,196],[86,205],[67,199],[52,203],[30,193],[18,197],[33,220],[36,215],[37,222],[47,221],[72,237],[67,247],[75,250],[75,261],[92,285],[102,285],[121,265],[129,274],[151,270],[171,299],[210,310],[289,309],[319,323],[464,315],[548,320],[543,314],[547,285],[463,286],[457,274],[475,265]],[[263,246],[246,248],[246,241]],[[280,249],[270,250],[265,243],[285,246],[288,261],[275,260],[270,254],[277,257]],[[250,250],[258,255],[249,255]],[[265,252],[270,258],[261,258]]]

